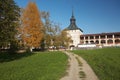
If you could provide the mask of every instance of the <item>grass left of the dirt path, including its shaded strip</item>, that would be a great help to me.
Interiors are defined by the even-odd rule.
[[[59,80],[67,68],[68,57],[58,51],[0,56],[0,80]]]

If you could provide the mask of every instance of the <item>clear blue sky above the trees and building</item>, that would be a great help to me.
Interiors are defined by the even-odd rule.
[[[30,0],[14,0],[26,7]],[[120,32],[120,0],[31,0],[40,11],[48,11],[50,19],[62,29],[70,24],[72,7],[76,24],[84,34]]]

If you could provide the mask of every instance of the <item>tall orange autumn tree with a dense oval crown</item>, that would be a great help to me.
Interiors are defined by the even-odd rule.
[[[31,51],[40,47],[43,38],[43,24],[39,10],[34,2],[29,2],[21,17],[21,38]]]

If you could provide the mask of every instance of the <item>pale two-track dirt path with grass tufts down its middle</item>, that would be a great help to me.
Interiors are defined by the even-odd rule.
[[[64,53],[69,56],[69,68],[68,74],[60,80],[99,80],[84,59],[71,52]]]

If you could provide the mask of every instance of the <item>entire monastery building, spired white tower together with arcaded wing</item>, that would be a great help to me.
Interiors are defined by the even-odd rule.
[[[83,34],[83,30],[77,27],[76,19],[72,12],[70,25],[66,28],[72,42],[69,46],[95,44],[96,46],[120,46],[120,32]]]

